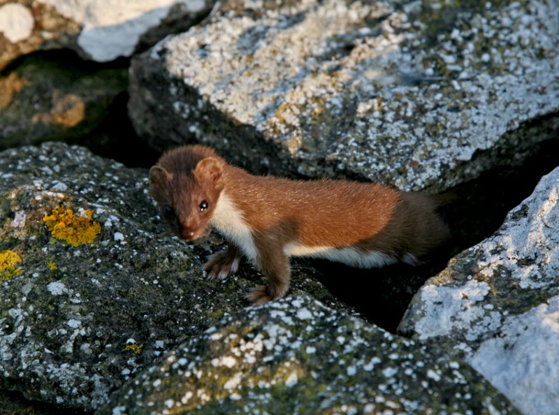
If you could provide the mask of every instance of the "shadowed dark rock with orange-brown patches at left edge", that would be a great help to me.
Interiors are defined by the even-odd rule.
[[[92,67],[68,54],[22,58],[0,77],[0,150],[93,133],[127,84],[125,67]]]

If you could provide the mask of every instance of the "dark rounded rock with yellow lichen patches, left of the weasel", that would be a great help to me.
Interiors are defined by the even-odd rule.
[[[76,247],[53,238],[43,217],[60,203],[92,210],[101,233]],[[146,170],[61,143],[0,152],[0,388],[90,411],[164,351],[248,305],[261,279],[249,265],[206,280],[201,264],[217,238],[184,244],[156,214]],[[22,259],[11,270],[1,269],[7,251]],[[293,286],[337,304],[301,271]]]

